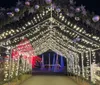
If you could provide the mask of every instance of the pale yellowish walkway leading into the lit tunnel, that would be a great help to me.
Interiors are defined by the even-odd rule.
[[[36,75],[21,85],[77,85],[66,76]]]

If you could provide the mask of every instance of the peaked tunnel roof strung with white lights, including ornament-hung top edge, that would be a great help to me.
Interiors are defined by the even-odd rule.
[[[0,45],[15,47],[28,38],[36,55],[49,49],[64,56],[99,49],[99,16],[89,14],[84,6],[76,7],[73,0],[60,2],[31,0],[12,10],[2,9],[7,17],[0,21]]]

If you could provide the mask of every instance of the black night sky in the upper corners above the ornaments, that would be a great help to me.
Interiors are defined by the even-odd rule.
[[[16,5],[16,2],[18,0],[0,0],[0,6],[1,7],[14,7]],[[20,0],[20,1],[25,1],[25,0]],[[89,10],[90,12],[95,12],[96,14],[100,15],[100,0],[74,0],[76,1],[77,5],[85,5],[86,9]]]

